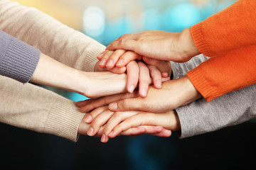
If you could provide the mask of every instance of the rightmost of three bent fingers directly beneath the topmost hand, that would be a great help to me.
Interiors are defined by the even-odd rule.
[[[142,56],[141,55],[138,55],[137,53],[135,52],[132,52],[132,51],[127,51],[124,53],[124,55],[122,55],[116,66],[117,67],[124,67],[126,66],[129,62],[133,61],[133,60],[142,60]]]

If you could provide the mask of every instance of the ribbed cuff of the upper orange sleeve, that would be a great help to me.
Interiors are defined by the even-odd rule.
[[[208,43],[206,42],[205,35],[202,30],[203,22],[198,23],[191,28],[191,36],[198,50],[208,57],[215,56],[215,52],[210,50]]]

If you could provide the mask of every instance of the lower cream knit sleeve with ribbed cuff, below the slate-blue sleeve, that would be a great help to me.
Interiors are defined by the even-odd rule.
[[[6,77],[0,77],[0,86],[2,123],[78,140],[78,127],[84,114],[80,113],[73,101],[41,87],[29,83],[23,85]]]

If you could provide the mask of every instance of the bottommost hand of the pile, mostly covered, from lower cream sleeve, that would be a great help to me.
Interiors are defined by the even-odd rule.
[[[105,108],[105,110],[102,110],[102,111],[108,110],[107,107],[102,107],[102,108],[103,109]],[[102,108],[99,108],[99,109],[102,109]],[[97,113],[99,113],[99,112],[97,112]],[[87,131],[90,129],[90,124],[88,124],[88,123],[90,123],[91,121],[88,121],[86,119],[88,117],[88,115],[89,115],[88,113],[85,114],[84,118],[82,119],[82,121],[78,127],[78,134],[80,134],[80,135],[87,135],[87,133],[88,133]],[[85,120],[87,120],[88,123],[86,123]],[[100,119],[100,121],[104,122],[105,120]],[[94,130],[91,130],[92,135],[94,135],[96,137],[102,136],[103,135],[102,130],[104,129],[104,127],[105,127],[105,125],[102,125],[100,128],[96,128],[97,132],[95,132]],[[124,130],[119,135],[137,136],[137,135],[144,135],[144,134],[156,135],[159,137],[169,137],[170,131],[164,129],[161,126],[142,125],[142,126],[133,127],[133,128]]]

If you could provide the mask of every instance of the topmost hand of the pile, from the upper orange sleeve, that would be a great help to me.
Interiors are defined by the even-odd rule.
[[[142,56],[174,62],[187,62],[201,53],[193,42],[190,28],[181,33],[146,30],[142,33],[125,34],[107,46],[107,50],[117,49],[131,50]]]

